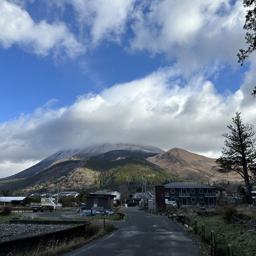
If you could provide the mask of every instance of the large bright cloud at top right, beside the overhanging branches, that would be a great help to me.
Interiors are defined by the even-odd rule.
[[[137,8],[130,38],[132,50],[164,53],[184,72],[204,68],[215,60],[237,65],[236,54],[245,44],[242,1],[152,1],[148,12]]]

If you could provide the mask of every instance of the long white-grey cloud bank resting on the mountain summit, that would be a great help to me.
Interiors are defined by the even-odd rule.
[[[244,122],[256,124],[256,101],[246,96],[255,74],[247,76],[240,90],[224,97],[200,74],[183,84],[179,69],[164,68],[98,95],[80,96],[69,107],[53,110],[45,104],[0,124],[0,163],[34,162],[60,149],[104,142],[179,147],[217,157],[221,134],[237,109]]]

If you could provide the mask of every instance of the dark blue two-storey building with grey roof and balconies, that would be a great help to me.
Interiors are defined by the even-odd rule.
[[[164,185],[164,196],[168,201],[180,199],[181,205],[217,205],[218,194],[214,186],[200,183],[168,183]]]

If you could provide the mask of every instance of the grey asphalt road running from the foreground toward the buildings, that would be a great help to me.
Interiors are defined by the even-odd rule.
[[[118,230],[62,256],[202,256],[184,230],[165,216],[128,208]]]

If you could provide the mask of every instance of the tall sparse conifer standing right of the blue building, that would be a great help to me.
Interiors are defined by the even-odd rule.
[[[252,204],[252,184],[256,181],[256,139],[252,124],[242,123],[241,112],[236,112],[230,133],[222,134],[226,138],[222,156],[216,160],[219,172],[235,172],[244,178],[248,204]]]

